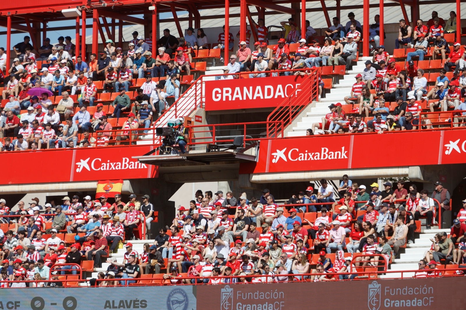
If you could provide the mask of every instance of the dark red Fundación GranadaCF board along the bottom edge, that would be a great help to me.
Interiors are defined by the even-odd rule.
[[[310,309],[322,292],[353,292],[322,301],[327,310],[438,310],[465,309],[463,276],[446,278],[370,279],[364,281],[290,282],[202,285],[197,289],[198,309],[289,310]],[[303,299],[305,297],[305,300]],[[351,302],[349,302],[349,298]],[[309,306],[304,306],[309,303]]]

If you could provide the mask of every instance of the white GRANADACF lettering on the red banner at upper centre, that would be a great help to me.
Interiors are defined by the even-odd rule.
[[[235,100],[256,100],[256,99],[277,99],[287,98],[291,96],[296,88],[301,84],[286,84],[286,85],[257,85],[257,86],[245,86],[224,88],[214,88],[212,90],[213,101],[235,101]],[[296,90],[297,93],[300,90]]]

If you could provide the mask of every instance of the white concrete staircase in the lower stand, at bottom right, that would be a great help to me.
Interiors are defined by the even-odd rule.
[[[450,229],[423,229],[414,243],[407,244],[404,253],[400,250],[400,258],[392,260],[389,270],[417,270],[419,260],[424,259],[424,253],[431,248],[430,241],[436,234],[441,232],[449,233]],[[401,278],[402,273],[388,273],[381,278]],[[403,278],[414,276],[414,272],[403,273]]]

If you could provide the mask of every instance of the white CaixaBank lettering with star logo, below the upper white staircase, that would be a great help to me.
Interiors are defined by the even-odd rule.
[[[285,155],[287,148],[282,150],[276,150],[275,153],[272,153],[274,158],[272,163],[277,163],[280,159],[288,162],[304,162],[304,161],[314,161],[314,160],[327,160],[327,159],[344,159],[348,158],[348,151],[345,151],[345,147],[342,147],[341,151],[330,151],[329,148],[321,148],[320,152],[308,152],[306,150],[304,153],[300,153],[298,148],[292,148],[288,151],[288,154]]]

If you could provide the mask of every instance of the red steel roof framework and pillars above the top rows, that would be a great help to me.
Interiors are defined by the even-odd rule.
[[[329,5],[330,2],[330,5]],[[42,39],[47,36],[48,31],[60,31],[64,29],[75,28],[76,30],[76,53],[80,54],[80,50],[84,50],[85,42],[82,42],[80,35],[86,37],[86,30],[92,27],[92,53],[97,53],[99,36],[104,42],[105,38],[110,38],[113,41],[121,42],[123,34],[123,26],[128,24],[144,25],[145,33],[149,30],[152,33],[159,34],[160,22],[158,20],[159,13],[172,13],[172,19],[164,20],[174,22],[179,36],[183,36],[184,31],[181,27],[181,22],[187,20],[189,27],[201,27],[201,20],[212,18],[225,19],[225,32],[229,32],[230,18],[238,16],[230,15],[230,8],[239,8],[240,19],[240,40],[245,40],[247,23],[251,24],[252,18],[255,16],[264,18],[270,14],[289,14],[295,17],[298,27],[305,24],[306,13],[323,12],[326,24],[331,25],[329,12],[334,12],[337,17],[344,10],[362,10],[363,20],[360,20],[363,25],[370,25],[370,11],[375,10],[380,15],[380,44],[384,43],[384,7],[400,7],[402,17],[411,25],[415,26],[416,20],[419,18],[421,6],[435,7],[437,4],[456,3],[457,19],[461,19],[460,0],[363,0],[358,1],[354,5],[354,1],[350,0],[35,0],[33,2],[10,2],[2,1],[0,3],[0,26],[7,28],[7,59],[11,50],[11,33],[14,31],[29,33],[33,46],[40,46]],[[255,10],[250,10],[250,7],[255,7]],[[450,9],[453,6],[448,6]],[[78,8],[80,15],[65,17],[62,13],[64,9]],[[224,15],[207,15],[202,10],[224,8]],[[185,17],[178,17],[179,12],[188,12]],[[410,16],[408,15],[410,12]],[[130,15],[129,15],[130,13]],[[374,13],[373,11],[371,13]],[[387,12],[385,12],[387,13]],[[86,18],[92,16],[92,24],[86,23]],[[142,18],[141,18],[142,16]],[[397,16],[399,18],[401,16]],[[108,21],[110,19],[110,21]],[[58,26],[48,27],[47,23],[51,21],[75,20],[75,26]],[[119,37],[115,38],[116,29],[119,29]],[[300,27],[302,36],[305,35],[305,27]],[[81,30],[81,34],[80,34]],[[457,40],[460,41],[461,23],[457,23]],[[254,40],[257,40],[257,34],[252,33]],[[363,27],[363,38],[369,38],[369,27]],[[117,39],[117,40],[116,40]],[[38,44],[39,43],[39,44]],[[154,45],[155,46],[155,45]],[[363,40],[362,46],[363,55],[369,55],[369,40]],[[228,57],[228,50],[225,51],[225,59]]]

